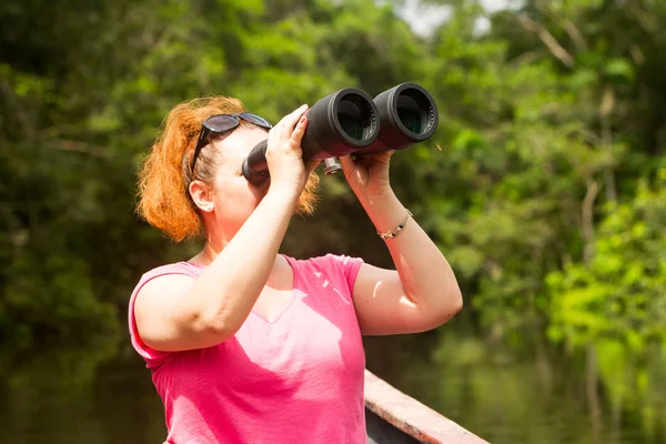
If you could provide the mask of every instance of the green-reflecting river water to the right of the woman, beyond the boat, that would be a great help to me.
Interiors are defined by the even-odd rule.
[[[599,341],[598,381],[607,402],[598,412],[603,427],[595,430],[585,400],[589,387],[576,377],[581,365],[575,357],[564,359],[537,336],[507,346],[458,329],[441,333],[432,357],[411,351],[418,341],[395,350],[392,341],[391,354],[410,363],[392,381],[488,442],[663,442],[666,355],[656,346],[646,360],[620,342]],[[381,355],[389,361],[390,354]]]

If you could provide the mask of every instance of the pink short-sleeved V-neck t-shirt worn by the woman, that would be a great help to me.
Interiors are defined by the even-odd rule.
[[[168,443],[367,443],[365,355],[352,301],[363,261],[285,258],[294,271],[293,300],[274,323],[252,312],[233,337],[185,352],[143,344],[134,299],[151,279],[198,278],[204,268],[178,262],[141,278],[129,327],[162,397]]]

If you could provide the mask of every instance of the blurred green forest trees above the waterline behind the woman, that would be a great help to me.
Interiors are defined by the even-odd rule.
[[[666,9],[433,1],[452,14],[422,38],[402,2],[381,3],[2,3],[0,335],[29,347],[118,334],[140,274],[196,250],[132,210],[175,103],[235,95],[278,121],[339,88],[411,80],[441,125],[393,157],[392,182],[456,270],[466,312],[496,335],[536,326],[572,347],[663,341]],[[321,193],[284,251],[391,266],[343,179]]]

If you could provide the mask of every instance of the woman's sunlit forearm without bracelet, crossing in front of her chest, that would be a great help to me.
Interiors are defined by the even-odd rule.
[[[273,269],[297,195],[271,190],[190,292],[200,326],[233,334]]]

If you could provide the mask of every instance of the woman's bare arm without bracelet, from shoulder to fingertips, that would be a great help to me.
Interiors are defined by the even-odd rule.
[[[201,276],[157,278],[137,295],[137,327],[150,347],[181,351],[219,344],[235,334],[252,311],[307,179],[300,148],[306,122],[299,119],[304,112],[294,111],[271,130],[271,188]]]

